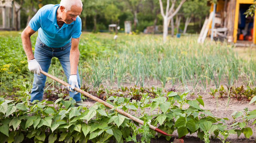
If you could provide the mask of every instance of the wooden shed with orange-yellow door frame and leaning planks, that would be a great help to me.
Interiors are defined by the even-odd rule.
[[[244,14],[252,4],[253,0],[218,0],[215,6],[209,4],[210,16],[203,25],[198,42],[203,42],[208,35],[241,46],[256,44],[255,14],[253,17]]]

